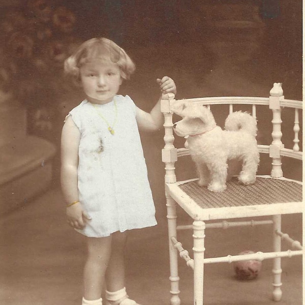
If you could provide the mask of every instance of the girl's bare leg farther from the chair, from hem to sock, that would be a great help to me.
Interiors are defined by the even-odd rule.
[[[105,272],[111,254],[111,236],[87,238],[87,260],[84,266],[84,299],[101,298]]]

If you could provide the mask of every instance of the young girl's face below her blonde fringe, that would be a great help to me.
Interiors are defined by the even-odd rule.
[[[100,59],[83,64],[80,79],[87,100],[94,104],[111,102],[122,83],[119,67]]]

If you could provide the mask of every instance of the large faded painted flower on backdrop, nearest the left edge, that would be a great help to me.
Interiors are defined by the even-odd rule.
[[[29,58],[33,54],[34,41],[22,32],[14,33],[8,41],[8,52],[12,57]]]

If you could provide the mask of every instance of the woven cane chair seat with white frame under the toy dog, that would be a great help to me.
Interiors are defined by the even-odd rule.
[[[221,193],[198,185],[198,179],[166,184],[168,194],[193,219],[217,220],[302,212],[302,185],[295,180],[257,176],[245,186],[237,178]]]

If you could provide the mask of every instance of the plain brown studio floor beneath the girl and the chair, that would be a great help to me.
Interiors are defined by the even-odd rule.
[[[179,212],[180,214],[180,212]],[[169,260],[166,214],[159,210],[159,224],[130,232],[126,272],[130,296],[143,305],[169,304]],[[163,215],[163,216],[162,216]],[[181,214],[182,222],[187,218]],[[283,217],[283,229],[301,240],[299,215]],[[49,190],[26,206],[0,219],[0,304],[79,305],[82,297],[84,240],[65,221],[59,189]],[[242,250],[267,251],[271,228],[209,229],[206,257],[236,254]],[[179,233],[192,254],[191,232]],[[230,238],[229,238],[230,237]],[[285,249],[285,247],[284,247]],[[227,252],[226,252],[227,251]],[[192,271],[184,261],[180,267],[181,304],[193,304]],[[258,279],[238,281],[232,265],[205,267],[206,305],[271,305],[272,263],[265,260]],[[300,257],[282,260],[283,298],[279,305],[302,304]]]

